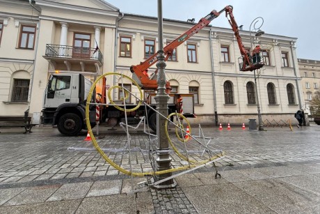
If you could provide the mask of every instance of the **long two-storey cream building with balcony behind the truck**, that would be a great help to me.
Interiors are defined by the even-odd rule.
[[[39,121],[47,79],[55,70],[81,72],[92,80],[106,72],[131,76],[131,65],[158,50],[157,17],[120,11],[102,0],[0,0],[0,114],[23,115],[29,109],[33,121]],[[164,45],[194,24],[164,20]],[[197,117],[193,122],[248,123],[248,119],[257,119],[257,94],[262,121],[294,120],[293,113],[305,106],[297,38],[266,33],[250,40],[249,31],[240,31],[246,48],[253,41],[268,56],[268,65],[257,70],[256,91],[253,72],[239,70],[241,55],[232,29],[214,27],[214,21],[211,24],[177,47],[176,55],[166,63],[166,78],[173,91],[195,94]],[[109,78],[107,84],[118,81]],[[24,92],[17,95],[20,89]],[[117,97],[115,91],[113,98]]]

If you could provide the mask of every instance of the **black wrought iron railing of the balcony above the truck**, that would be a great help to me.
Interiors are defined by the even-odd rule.
[[[89,47],[47,44],[45,56],[55,58],[90,59],[97,60],[103,64],[103,55],[100,50]]]

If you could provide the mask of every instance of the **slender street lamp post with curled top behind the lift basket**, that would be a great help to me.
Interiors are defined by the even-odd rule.
[[[255,24],[257,24],[257,22],[262,21],[262,23],[259,25],[259,27],[256,27]],[[255,22],[253,24],[253,22]],[[253,20],[253,22],[251,22],[250,24],[250,45],[251,45],[251,49],[253,49],[253,42],[251,41],[251,32],[255,31],[255,36],[262,36],[264,34],[264,31],[260,30],[260,27],[262,26],[262,24],[264,24],[264,19],[262,17],[257,17],[255,18],[255,20]],[[253,29],[251,30],[251,26],[253,24]],[[253,70],[253,75],[255,76],[255,91],[257,93],[257,111],[258,111],[258,123],[259,123],[259,131],[263,131],[264,130],[264,125],[262,125],[262,117],[261,117],[261,112],[260,112],[260,105],[259,105],[259,93],[257,90],[257,77],[255,75],[255,70]]]

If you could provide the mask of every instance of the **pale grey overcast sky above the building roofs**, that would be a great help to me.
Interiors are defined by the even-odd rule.
[[[106,0],[120,12],[157,17],[157,0]],[[211,10],[234,7],[238,26],[250,31],[251,22],[263,17],[261,27],[265,33],[298,38],[296,53],[301,59],[320,60],[320,1],[319,0],[162,0],[163,18],[198,22]],[[225,15],[210,23],[212,26],[230,28]],[[253,29],[253,25],[251,26]]]

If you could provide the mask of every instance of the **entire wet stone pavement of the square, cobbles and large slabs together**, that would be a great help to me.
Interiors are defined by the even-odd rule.
[[[137,183],[150,179],[119,173],[83,141],[86,132],[63,137],[56,128],[26,135],[1,129],[0,213],[320,213],[320,126],[265,129],[202,128],[212,138],[208,147],[226,152],[216,162],[221,178],[214,178],[214,167],[202,167],[175,177],[177,187],[168,190],[142,188]],[[146,151],[154,146],[141,130],[131,132],[130,156],[122,151],[129,144],[120,128],[100,133],[99,146],[122,168],[152,170]],[[183,153],[184,144],[176,146]],[[170,157],[174,168],[187,165],[173,152]]]

